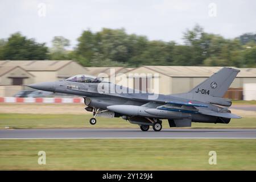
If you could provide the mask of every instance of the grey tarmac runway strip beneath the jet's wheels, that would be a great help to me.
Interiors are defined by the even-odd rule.
[[[0,130],[0,139],[220,138],[256,139],[256,129],[18,129]]]

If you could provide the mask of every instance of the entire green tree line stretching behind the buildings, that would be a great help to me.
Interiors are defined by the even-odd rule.
[[[0,39],[0,60],[75,60],[85,67],[139,67],[141,65],[256,67],[256,34],[225,39],[196,25],[183,33],[184,44],[148,40],[125,29],[85,30],[72,50],[63,36],[52,47],[19,32]]]

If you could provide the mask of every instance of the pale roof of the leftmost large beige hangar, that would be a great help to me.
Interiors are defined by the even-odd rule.
[[[0,61],[0,66],[19,66],[26,71],[57,71],[65,65],[71,63],[72,60],[34,60],[34,61]]]

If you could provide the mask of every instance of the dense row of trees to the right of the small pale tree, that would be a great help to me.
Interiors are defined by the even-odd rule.
[[[238,38],[225,39],[220,35],[208,34],[199,25],[185,31],[183,39],[185,44],[177,44],[129,35],[123,28],[103,28],[95,33],[86,30],[79,37],[73,55],[85,66],[255,66],[255,41],[243,46]]]

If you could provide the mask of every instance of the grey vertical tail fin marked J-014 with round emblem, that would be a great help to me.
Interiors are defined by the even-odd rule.
[[[224,67],[207,80],[201,82],[201,84],[197,85],[189,93],[223,97],[239,72],[240,70],[238,69]]]

